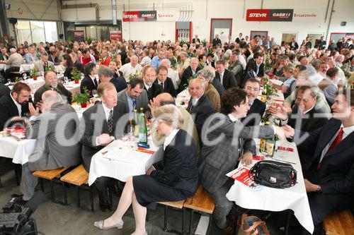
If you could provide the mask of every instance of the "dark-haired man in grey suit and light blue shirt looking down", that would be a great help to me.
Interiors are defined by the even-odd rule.
[[[130,118],[134,116],[134,109],[139,112],[140,108],[143,108],[145,114],[151,116],[147,91],[144,90],[143,80],[139,78],[132,78],[128,83],[128,87],[118,92],[118,100],[125,105]]]

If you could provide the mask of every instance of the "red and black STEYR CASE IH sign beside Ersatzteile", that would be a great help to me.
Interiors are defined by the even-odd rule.
[[[247,9],[247,21],[292,21],[294,9]]]

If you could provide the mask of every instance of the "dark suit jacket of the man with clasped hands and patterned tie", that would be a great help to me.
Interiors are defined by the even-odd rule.
[[[118,102],[113,109],[113,133],[115,139],[121,137],[125,123],[129,120],[127,115],[123,116],[126,113],[127,107]],[[96,119],[92,119],[91,115],[96,115]],[[84,168],[89,172],[92,156],[104,147],[103,145],[96,145],[96,138],[98,135],[108,133],[108,124],[107,119],[105,119],[102,102],[97,102],[93,107],[87,109],[82,116],[84,121],[81,123],[84,123],[84,125],[81,126],[81,131],[84,132],[84,135],[81,138],[81,156],[84,161]]]

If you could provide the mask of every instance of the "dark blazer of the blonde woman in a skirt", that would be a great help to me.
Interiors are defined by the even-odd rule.
[[[152,178],[173,188],[195,192],[198,188],[198,166],[195,155],[195,144],[186,144],[191,138],[188,133],[179,130],[172,142],[164,150],[164,158],[153,164]]]

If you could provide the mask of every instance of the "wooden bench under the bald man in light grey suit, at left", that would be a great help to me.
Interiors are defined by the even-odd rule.
[[[43,179],[47,179],[50,182],[50,194],[52,195],[52,202],[55,202],[54,188],[53,188],[53,180],[59,178],[64,171],[66,171],[68,167],[61,167],[58,169],[51,170],[40,170],[33,172],[33,176],[37,176],[40,179],[40,186],[44,193]],[[64,204],[67,205],[67,197],[66,197],[66,189],[64,182],[62,182],[63,193],[64,193]]]

